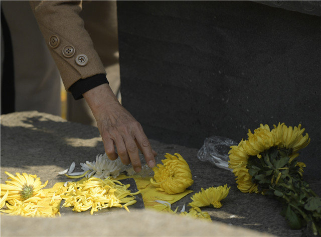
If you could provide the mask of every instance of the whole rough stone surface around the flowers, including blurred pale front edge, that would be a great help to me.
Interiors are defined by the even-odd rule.
[[[201,187],[231,186],[229,195],[220,209],[204,208],[211,214],[214,225],[195,220],[182,219],[159,213],[126,212],[95,213],[93,217],[64,215],[57,219],[19,218],[2,215],[3,235],[248,235],[236,226],[250,228],[280,236],[301,236],[305,230],[291,230],[279,214],[281,205],[277,200],[258,194],[240,192],[234,182],[232,172],[219,169],[211,163],[197,159],[197,149],[177,144],[166,144],[151,140],[157,159],[166,152],[179,152],[189,163],[194,184],[190,189],[200,191]],[[43,181],[49,180],[48,187],[55,182],[66,181],[67,177],[58,172],[69,167],[72,161],[79,163],[92,161],[103,152],[103,144],[96,127],[67,122],[60,117],[46,113],[16,112],[1,116],[1,182],[7,175],[4,171],[37,174]],[[320,195],[319,177],[307,175],[305,178]],[[183,206],[190,202],[187,195],[177,203]],[[107,216],[105,216],[107,214]],[[111,215],[113,214],[113,215]],[[110,227],[108,223],[114,226]],[[116,224],[120,224],[116,229]],[[228,224],[228,225],[226,225]],[[35,228],[37,226],[37,228]],[[82,228],[86,226],[86,228]],[[95,226],[94,230],[90,228]],[[97,227],[99,226],[99,227]],[[99,232],[101,230],[101,232]],[[107,232],[108,230],[108,232]],[[39,231],[39,232],[37,232]],[[52,232],[51,232],[52,231]],[[93,232],[90,232],[93,231]],[[151,232],[151,231],[156,231]],[[92,233],[92,234],[91,234]],[[254,235],[261,235],[255,233]]]

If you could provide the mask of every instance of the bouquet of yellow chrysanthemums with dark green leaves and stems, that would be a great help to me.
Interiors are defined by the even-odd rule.
[[[231,146],[229,167],[242,192],[280,199],[290,227],[308,225],[316,235],[321,233],[321,198],[302,179],[305,164],[298,161],[298,151],[310,142],[303,131],[301,124],[293,128],[279,123],[272,130],[260,124],[254,133],[249,130],[247,140]]]

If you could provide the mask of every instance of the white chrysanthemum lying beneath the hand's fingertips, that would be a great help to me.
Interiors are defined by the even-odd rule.
[[[117,177],[120,172],[126,169],[126,165],[123,164],[118,157],[116,160],[110,160],[106,153],[98,154],[96,156],[96,161],[86,163],[80,163],[81,169],[88,171],[86,177],[97,177],[106,178],[109,175]]]

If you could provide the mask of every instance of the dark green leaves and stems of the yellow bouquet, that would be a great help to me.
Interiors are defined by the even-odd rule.
[[[321,198],[302,180],[297,159],[289,162],[289,152],[277,147],[271,147],[261,155],[259,159],[250,156],[247,164],[258,190],[284,203],[282,214],[291,228],[308,225],[313,234],[321,234],[321,227],[317,224],[321,222]]]

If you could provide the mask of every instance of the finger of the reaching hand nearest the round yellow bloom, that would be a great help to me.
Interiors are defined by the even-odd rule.
[[[149,143],[148,138],[146,137],[145,133],[142,129],[135,133],[136,144],[140,151],[143,153],[146,163],[149,167],[155,166],[155,158],[154,156],[157,154],[153,152]]]

